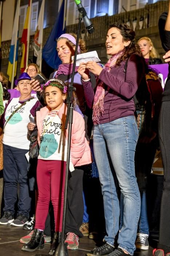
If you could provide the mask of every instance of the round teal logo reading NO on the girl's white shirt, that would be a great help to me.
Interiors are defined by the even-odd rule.
[[[48,158],[55,153],[57,148],[58,142],[56,141],[54,134],[45,134],[40,143],[39,154],[43,158]]]

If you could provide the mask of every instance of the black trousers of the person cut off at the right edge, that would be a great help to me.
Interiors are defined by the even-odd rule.
[[[159,115],[159,142],[164,170],[164,186],[158,249],[163,249],[165,253],[168,253],[170,252],[170,101],[162,102]]]

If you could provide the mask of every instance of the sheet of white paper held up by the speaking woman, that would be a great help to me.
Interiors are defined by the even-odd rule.
[[[72,60],[74,60],[74,56],[72,56]],[[96,51],[78,54],[76,58],[76,66],[79,66],[80,63],[82,62],[86,63],[88,61],[95,61],[95,62],[100,61]]]

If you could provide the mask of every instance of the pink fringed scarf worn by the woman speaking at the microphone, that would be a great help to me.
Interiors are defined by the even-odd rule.
[[[123,50],[114,56],[112,56],[107,63],[104,65],[104,69],[107,70],[107,72],[110,72],[111,67],[113,67],[116,64],[116,60],[122,55]],[[102,81],[97,80],[97,89],[96,93],[94,95],[94,102],[93,102],[93,123],[98,124],[100,116],[103,116],[104,114],[104,83]]]

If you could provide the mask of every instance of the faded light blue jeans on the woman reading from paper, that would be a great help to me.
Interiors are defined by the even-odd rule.
[[[121,117],[110,123],[94,125],[94,155],[102,186],[106,236],[114,245],[119,231],[120,207],[114,173],[123,195],[123,226],[118,236],[119,248],[130,255],[135,251],[141,198],[135,177],[134,155],[138,128],[134,116]]]

